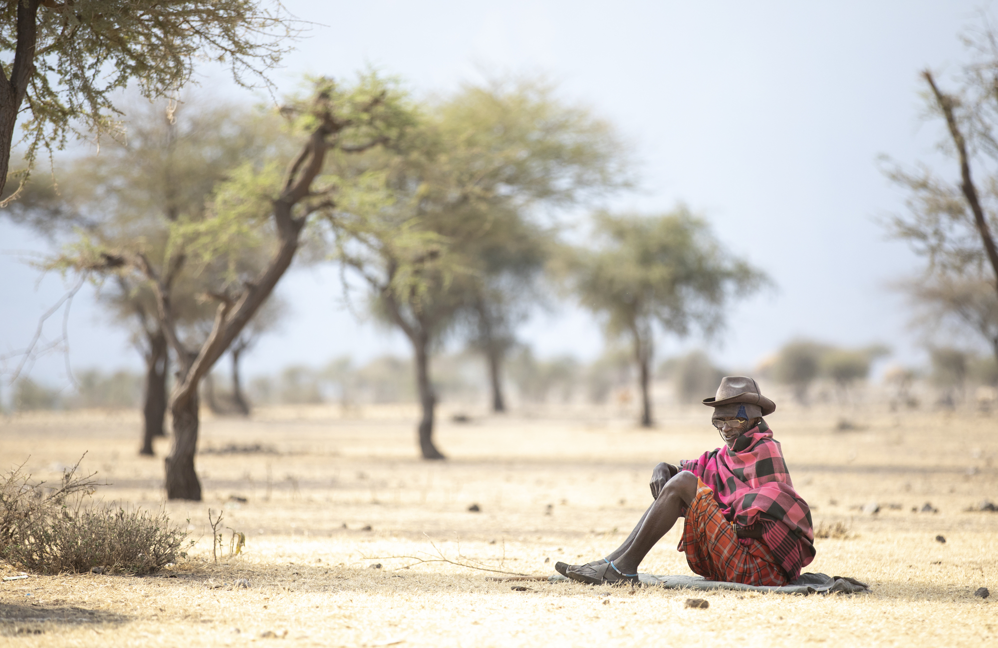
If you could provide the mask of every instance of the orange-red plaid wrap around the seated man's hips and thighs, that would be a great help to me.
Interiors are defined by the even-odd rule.
[[[697,480],[697,494],[687,507],[683,537],[677,547],[686,551],[695,573],[709,580],[746,585],[785,585],[786,575],[769,547],[758,539],[739,542],[735,524],[725,519],[714,491]]]

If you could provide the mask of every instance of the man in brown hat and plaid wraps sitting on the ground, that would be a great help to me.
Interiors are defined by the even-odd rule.
[[[785,585],[814,558],[810,509],[793,489],[779,444],[762,420],[776,406],[751,378],[729,376],[715,398],[714,427],[725,446],[652,473],[655,501],[615,551],[584,565],[555,564],[584,583],[638,582],[638,565],[677,518],[679,550],[708,580]]]

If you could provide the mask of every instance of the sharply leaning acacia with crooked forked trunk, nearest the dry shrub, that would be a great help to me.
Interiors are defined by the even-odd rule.
[[[410,121],[404,97],[374,75],[352,87],[329,79],[314,82],[307,102],[282,109],[304,139],[284,172],[278,160],[250,161],[234,169],[219,186],[204,213],[180,214],[166,223],[168,244],[159,256],[142,241],[97,237],[81,240],[75,254],[61,262],[84,271],[125,274],[150,286],[157,317],[177,359],[177,381],[170,395],[173,445],[166,458],[166,488],[171,499],[201,499],[195,471],[202,379],[231,347],[273,291],[298,249],[301,232],[316,212],[335,208],[339,193],[351,187],[323,173],[331,151],[342,154],[374,149],[398,136]],[[356,194],[357,191],[352,191]],[[240,250],[269,242],[270,253],[258,272],[241,272]],[[205,291],[214,300],[215,318],[204,340],[185,339],[174,305],[177,286],[207,268],[221,277]]]

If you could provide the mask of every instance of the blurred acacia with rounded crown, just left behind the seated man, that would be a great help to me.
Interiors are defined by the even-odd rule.
[[[568,253],[568,279],[580,305],[604,320],[608,337],[630,338],[641,425],[651,427],[656,327],[710,336],[723,326],[725,308],[766,278],[722,248],[707,222],[682,205],[661,216],[599,212],[593,224],[599,243]]]

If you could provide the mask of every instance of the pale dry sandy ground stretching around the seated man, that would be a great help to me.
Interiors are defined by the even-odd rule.
[[[437,441],[450,457],[442,463],[414,458],[414,410],[406,407],[350,418],[315,407],[206,420],[203,450],[260,449],[203,452],[205,501],[165,504],[198,540],[189,558],[142,578],[4,582],[0,645],[977,646],[998,638],[996,597],[973,595],[998,587],[998,513],[967,510],[998,500],[998,420],[867,413],[853,417],[860,430],[836,433],[830,411],[769,417],[815,524],[850,530],[817,540],[805,570],[854,576],[873,589],[804,597],[495,582],[487,571],[419,563],[443,556],[546,575],[557,560],[594,559],[650,503],[657,462],[718,445],[698,409],[653,431],[597,416],[456,424],[441,414]],[[159,442],[159,458],[139,458],[138,430],[132,413],[0,419],[0,468],[27,460],[37,478],[55,480],[86,451],[84,468],[113,485],[98,496],[158,507],[169,441]],[[860,510],[870,501],[880,512]],[[913,511],[926,502],[938,512]],[[473,503],[480,512],[468,510]],[[232,530],[247,534],[243,554],[229,557],[227,544],[213,561],[209,508],[224,509],[227,542]],[[691,573],[676,551],[680,531],[667,534],[642,571]],[[234,585],[241,578],[249,587]],[[691,596],[710,607],[684,607]]]

